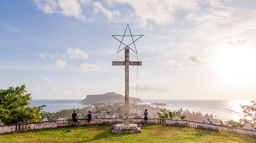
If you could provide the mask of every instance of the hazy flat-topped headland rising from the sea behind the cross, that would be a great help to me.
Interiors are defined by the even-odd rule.
[[[125,102],[125,96],[117,94],[115,92],[107,92],[105,94],[86,95],[86,98],[79,103],[83,105],[95,104],[95,103],[108,103],[108,102]],[[143,101],[140,98],[129,97],[129,104],[138,104]]]

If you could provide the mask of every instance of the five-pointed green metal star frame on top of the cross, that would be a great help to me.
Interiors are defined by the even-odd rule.
[[[134,51],[133,49],[131,49],[131,50],[132,50],[133,52],[135,52],[136,54],[138,54],[134,42],[137,41],[139,38],[141,38],[143,35],[132,35],[132,34],[131,34],[130,27],[129,27],[128,24],[127,24],[127,26],[126,26],[125,32],[126,32],[126,30],[127,30],[127,27],[129,28],[130,35],[125,35],[125,33],[124,33],[123,35],[112,35],[116,40],[118,40],[118,41],[120,42],[119,48],[118,48],[118,50],[117,50],[117,53],[120,52],[120,51],[122,51],[122,50],[125,49],[126,47],[128,47],[129,49],[131,49],[129,46],[130,46],[131,44],[134,44],[135,51]],[[116,37],[117,37],[117,36],[123,36],[123,38],[122,38],[122,40],[120,41],[120,40],[117,39],[115,36],[116,36]],[[128,44],[128,45],[126,45],[125,43],[123,43],[123,39],[124,39],[125,36],[131,36],[132,42],[131,42],[130,44]],[[133,40],[133,37],[135,37],[135,36],[139,36],[139,38],[137,38],[136,40]],[[121,47],[122,44],[125,45],[125,47],[119,51],[119,49],[120,49],[120,47]]]

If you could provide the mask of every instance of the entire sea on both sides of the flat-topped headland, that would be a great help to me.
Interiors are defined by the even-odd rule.
[[[63,99],[63,100],[32,100],[30,103],[33,106],[47,105],[43,108],[43,111],[53,112],[60,111],[62,109],[73,109],[87,107],[79,103],[82,99]],[[203,115],[206,113],[216,116],[223,121],[233,119],[239,121],[243,118],[244,114],[242,108],[239,105],[248,105],[251,100],[163,100],[163,99],[142,99],[143,103],[166,103],[166,106],[159,106],[169,109],[171,111],[183,109],[192,112],[201,112]],[[156,105],[152,105],[155,107]]]

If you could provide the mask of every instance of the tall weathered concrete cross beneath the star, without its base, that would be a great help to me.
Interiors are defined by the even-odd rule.
[[[142,61],[130,61],[129,47],[125,47],[125,61],[112,61],[112,65],[125,65],[125,125],[129,124],[129,65],[142,65]]]

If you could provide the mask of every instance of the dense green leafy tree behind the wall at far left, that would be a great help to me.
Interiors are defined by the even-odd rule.
[[[29,107],[32,97],[30,93],[25,94],[25,87],[23,84],[21,87],[0,89],[0,120],[3,123],[17,123],[23,119],[38,120],[47,115],[46,112],[42,112],[46,105]]]

